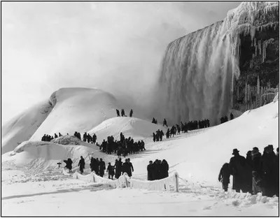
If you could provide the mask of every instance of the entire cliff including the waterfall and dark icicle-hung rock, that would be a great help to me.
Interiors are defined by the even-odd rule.
[[[242,2],[223,21],[169,43],[158,111],[173,124],[205,118],[218,124],[232,109],[272,101],[269,87],[278,80],[279,3]]]

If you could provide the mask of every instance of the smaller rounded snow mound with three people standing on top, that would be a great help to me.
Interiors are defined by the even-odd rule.
[[[120,133],[128,138],[132,137],[134,140],[144,140],[153,136],[153,132],[158,129],[166,133],[167,128],[158,124],[152,124],[144,119],[135,117],[113,117],[106,119],[104,122],[94,127],[89,131],[92,136],[93,133],[97,135],[97,142],[102,143],[103,139],[107,140],[108,136],[113,136],[115,140],[120,140]]]

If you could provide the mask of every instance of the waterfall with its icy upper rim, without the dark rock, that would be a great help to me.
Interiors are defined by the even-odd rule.
[[[276,29],[278,10],[275,1],[242,2],[223,21],[169,43],[159,81],[162,115],[174,123],[208,118],[211,124],[228,115],[240,75],[240,36],[251,36],[255,55],[265,61],[272,40],[256,41],[255,32]]]

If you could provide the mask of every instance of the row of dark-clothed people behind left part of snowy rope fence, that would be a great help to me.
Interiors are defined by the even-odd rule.
[[[72,163],[73,161],[69,158],[67,160],[64,160],[64,163],[66,163],[65,168],[69,169],[69,172],[72,172]],[[80,156],[80,161],[78,162],[78,167],[80,170],[80,173],[83,174],[83,171],[85,169],[85,159],[83,156]],[[122,159],[116,159],[115,164],[111,165],[111,163],[108,163],[107,169],[106,164],[101,158],[100,160],[98,158],[91,158],[90,159],[90,169],[91,171],[99,175],[101,177],[104,176],[105,170],[108,173],[108,178],[113,180],[113,177],[115,176],[116,179],[120,177],[120,175],[123,175],[123,173],[127,173],[129,177],[132,177],[132,172],[134,171],[133,165],[130,162],[130,159],[125,159],[125,162],[122,161]]]

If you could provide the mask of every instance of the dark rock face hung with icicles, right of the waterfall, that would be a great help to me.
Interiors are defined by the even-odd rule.
[[[253,40],[240,36],[240,76],[235,80],[233,108],[245,111],[273,101],[279,88],[279,22],[278,11],[266,20],[259,17]]]

